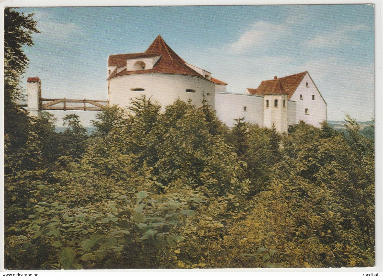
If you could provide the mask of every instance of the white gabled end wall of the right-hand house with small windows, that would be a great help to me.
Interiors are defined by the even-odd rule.
[[[307,87],[306,83],[308,83]],[[300,95],[302,95],[302,98]],[[327,120],[326,102],[324,102],[309,74],[306,73],[303,77],[302,82],[298,85],[290,100],[296,102],[296,123],[303,120],[307,124],[320,127],[319,123]],[[308,109],[307,113],[305,109]]]

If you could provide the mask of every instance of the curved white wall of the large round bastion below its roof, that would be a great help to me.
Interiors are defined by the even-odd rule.
[[[178,98],[185,102],[191,99],[198,108],[201,107],[201,94],[204,92],[206,100],[214,108],[214,83],[194,76],[159,73],[123,75],[110,79],[108,87],[110,105],[128,106],[130,98],[144,94],[147,97],[151,96],[152,100],[157,100],[162,105],[162,110]],[[195,92],[186,92],[187,89]]]

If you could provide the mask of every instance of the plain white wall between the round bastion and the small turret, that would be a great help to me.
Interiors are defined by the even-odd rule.
[[[244,110],[246,107],[246,111]],[[219,120],[227,126],[234,126],[234,119],[263,126],[263,97],[237,93],[215,93],[215,109]]]

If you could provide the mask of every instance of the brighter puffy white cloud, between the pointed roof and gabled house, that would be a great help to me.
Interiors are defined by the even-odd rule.
[[[230,44],[233,54],[241,54],[254,47],[267,46],[291,33],[286,25],[257,21],[235,43]]]

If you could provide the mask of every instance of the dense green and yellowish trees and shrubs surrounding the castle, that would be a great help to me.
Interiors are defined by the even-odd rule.
[[[57,134],[13,104],[23,66],[8,50],[7,269],[374,265],[374,144],[351,118],[349,138],[303,121],[286,136],[230,130],[203,96],[163,113],[143,96],[105,108],[91,137],[76,115]]]

